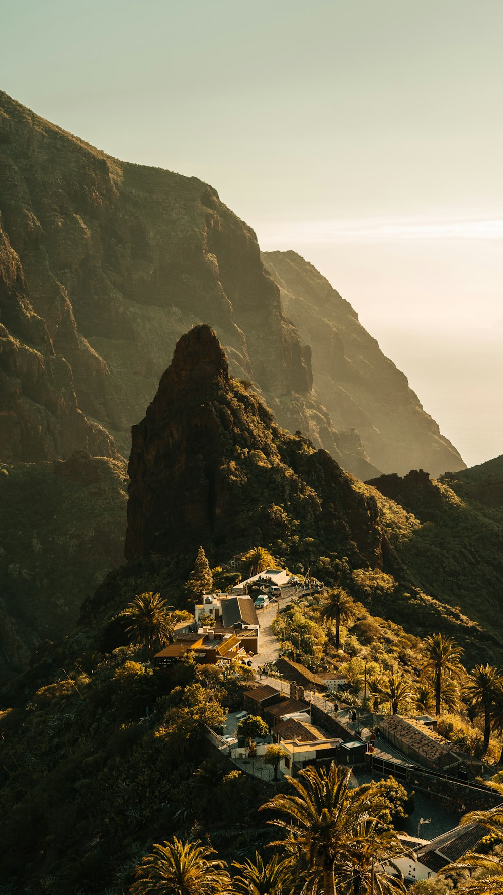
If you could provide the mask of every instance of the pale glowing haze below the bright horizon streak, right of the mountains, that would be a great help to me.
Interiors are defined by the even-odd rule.
[[[298,251],[353,305],[467,465],[503,454],[500,238],[263,242]]]

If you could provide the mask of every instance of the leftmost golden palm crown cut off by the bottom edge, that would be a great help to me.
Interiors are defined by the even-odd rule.
[[[214,848],[197,842],[154,845],[136,868],[130,895],[224,895],[230,891],[226,863],[212,856]]]

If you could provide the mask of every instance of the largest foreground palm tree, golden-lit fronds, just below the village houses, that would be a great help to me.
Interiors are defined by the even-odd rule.
[[[286,830],[286,840],[273,844],[305,857],[311,873],[321,871],[324,895],[335,895],[336,875],[337,885],[351,878],[351,862],[362,854],[362,822],[377,821],[388,805],[369,784],[350,789],[350,778],[351,768],[334,763],[328,771],[304,768],[298,780],[287,778],[291,795],[277,795],[260,807],[277,814],[269,823]]]

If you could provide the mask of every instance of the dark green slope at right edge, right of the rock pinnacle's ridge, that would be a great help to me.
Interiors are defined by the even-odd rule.
[[[473,469],[446,473],[439,481],[413,470],[403,478],[383,475],[369,482],[415,518],[410,536],[396,541],[398,567],[403,564],[422,591],[460,607],[499,635],[503,629],[502,467],[499,457]]]

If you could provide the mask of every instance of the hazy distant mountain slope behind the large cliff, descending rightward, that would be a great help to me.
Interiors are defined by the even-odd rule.
[[[311,345],[314,387],[336,428],[358,430],[371,462],[385,473],[463,469],[404,373],[328,280],[295,251],[266,251],[262,260],[280,286],[286,314]]]

